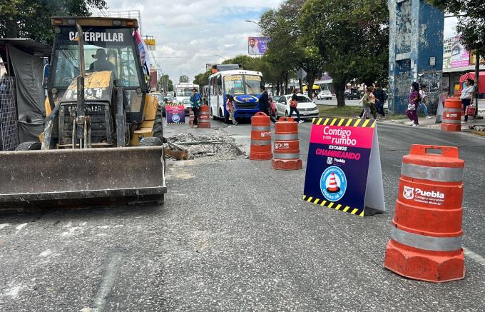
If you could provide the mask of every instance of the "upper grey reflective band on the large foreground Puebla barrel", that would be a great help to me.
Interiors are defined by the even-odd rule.
[[[428,167],[414,163],[402,163],[402,176],[437,182],[460,182],[463,180],[463,168]]]

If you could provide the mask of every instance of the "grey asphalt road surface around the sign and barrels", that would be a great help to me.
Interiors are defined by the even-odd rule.
[[[213,127],[190,131],[248,150],[249,124]],[[375,216],[305,203],[305,170],[244,157],[170,161],[163,206],[3,214],[0,311],[483,311],[485,139],[377,131],[387,213]],[[305,162],[309,136],[300,124]],[[411,144],[459,146],[466,161],[462,281],[412,281],[382,266]]]

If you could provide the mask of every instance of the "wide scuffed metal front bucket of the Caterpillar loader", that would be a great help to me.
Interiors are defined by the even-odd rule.
[[[0,153],[0,208],[163,202],[163,146]]]

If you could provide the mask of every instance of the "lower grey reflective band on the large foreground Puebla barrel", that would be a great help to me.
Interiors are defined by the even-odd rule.
[[[403,245],[426,251],[457,251],[461,248],[461,235],[456,237],[424,236],[393,227],[391,238]]]

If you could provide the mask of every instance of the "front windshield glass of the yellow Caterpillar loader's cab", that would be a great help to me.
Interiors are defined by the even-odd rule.
[[[141,86],[131,29],[91,27],[84,30],[84,39],[86,72],[112,71],[117,86]],[[71,27],[61,27],[61,33],[56,37],[53,66],[53,85],[56,87],[69,86],[80,74],[78,34]]]

